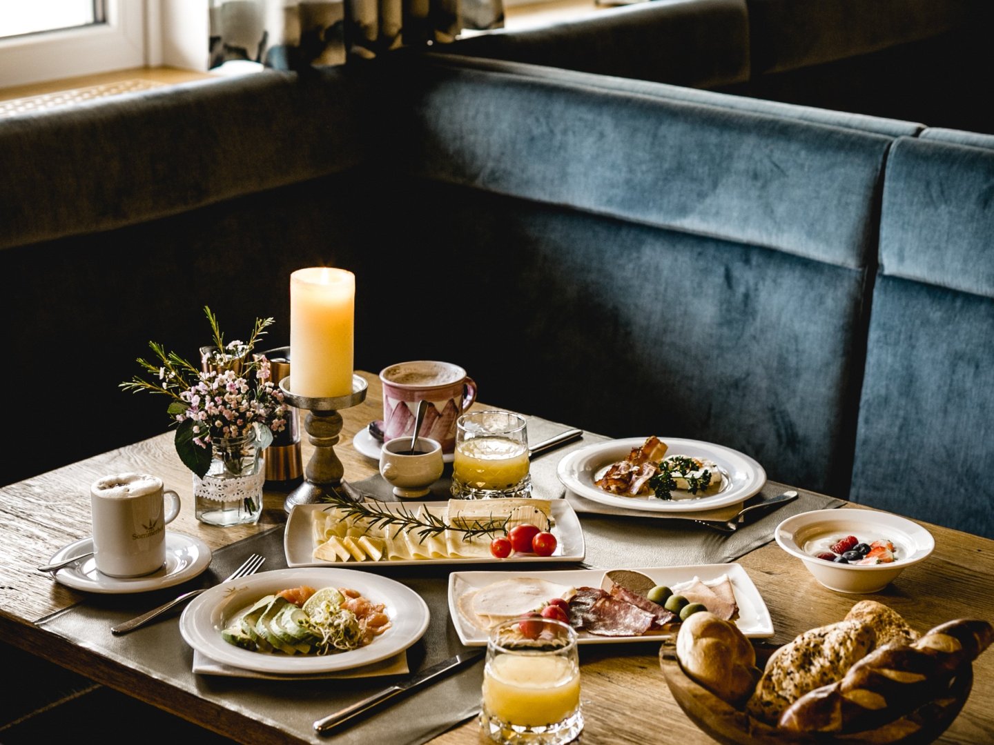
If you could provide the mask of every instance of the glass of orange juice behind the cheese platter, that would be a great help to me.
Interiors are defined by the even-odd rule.
[[[510,411],[473,411],[455,422],[452,496],[463,500],[531,497],[528,426]]]

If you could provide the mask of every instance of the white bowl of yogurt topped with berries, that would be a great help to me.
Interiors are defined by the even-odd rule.
[[[821,584],[836,592],[879,592],[911,564],[932,552],[931,533],[907,518],[874,510],[815,510],[787,518],[773,533],[780,548],[796,556]],[[818,541],[855,535],[861,542],[887,538],[895,547],[895,560],[887,564],[843,564],[816,558]]]

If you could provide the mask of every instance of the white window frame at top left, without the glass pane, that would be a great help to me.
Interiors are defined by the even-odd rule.
[[[0,39],[0,87],[148,65],[145,20],[158,16],[158,0],[104,0],[104,6],[105,23]]]

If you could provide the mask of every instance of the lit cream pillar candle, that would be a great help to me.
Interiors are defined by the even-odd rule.
[[[356,276],[315,266],[290,274],[290,392],[311,398],[352,392]]]

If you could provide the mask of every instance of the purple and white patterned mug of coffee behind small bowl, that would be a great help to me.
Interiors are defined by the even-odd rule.
[[[455,450],[455,420],[476,400],[476,381],[458,365],[418,360],[380,371],[384,442],[414,434],[418,401],[428,402],[419,434]]]

